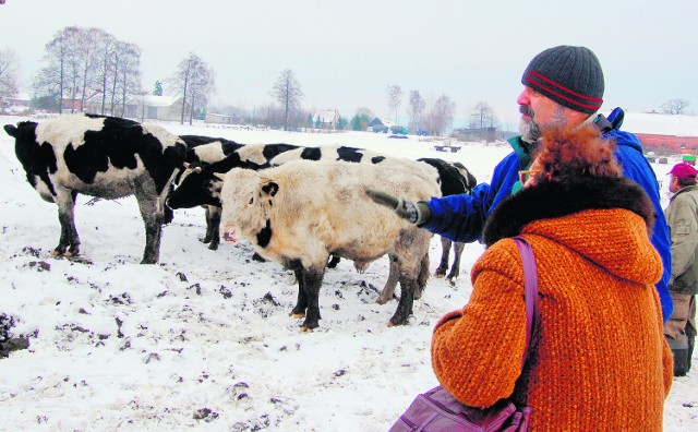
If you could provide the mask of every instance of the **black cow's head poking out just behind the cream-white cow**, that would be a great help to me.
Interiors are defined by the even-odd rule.
[[[198,205],[220,206],[222,181],[206,167],[189,166],[176,179],[177,188],[167,200],[170,208],[191,208]]]

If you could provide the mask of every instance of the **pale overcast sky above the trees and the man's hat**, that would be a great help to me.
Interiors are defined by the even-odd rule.
[[[148,91],[191,51],[215,71],[214,103],[267,105],[290,69],[308,109],[348,118],[368,107],[393,118],[386,87],[399,85],[405,122],[417,89],[432,101],[449,96],[456,118],[486,101],[516,124],[524,69],[556,45],[597,53],[603,110],[648,111],[683,98],[698,112],[697,17],[695,0],[5,0],[0,49],[17,53],[28,89],[58,31],[94,26],[143,49]]]

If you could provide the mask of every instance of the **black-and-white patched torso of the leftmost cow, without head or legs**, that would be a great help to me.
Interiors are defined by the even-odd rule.
[[[185,146],[158,125],[85,115],[61,116],[36,127],[37,143],[49,145],[55,185],[113,199],[133,193],[133,184],[153,180],[160,193],[184,160]]]

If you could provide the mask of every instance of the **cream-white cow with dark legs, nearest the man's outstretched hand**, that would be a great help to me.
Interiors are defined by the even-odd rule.
[[[412,313],[413,293],[432,235],[373,203],[366,189],[381,188],[409,200],[440,196],[436,170],[397,165],[293,160],[260,171],[232,169],[225,176],[221,236],[249,240],[264,257],[296,272],[296,317],[318,326],[318,292],[327,259],[335,254],[368,264],[385,254],[395,262],[400,300],[392,325]]]

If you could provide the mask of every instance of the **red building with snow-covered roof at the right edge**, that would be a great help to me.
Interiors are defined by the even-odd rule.
[[[621,129],[633,132],[645,152],[698,153],[698,116],[626,112]]]

